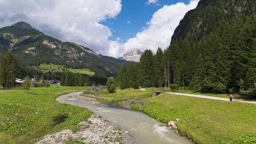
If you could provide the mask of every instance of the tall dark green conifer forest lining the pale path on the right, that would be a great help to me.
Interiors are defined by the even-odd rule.
[[[173,40],[155,55],[146,50],[135,66],[123,65],[116,76],[120,88],[170,87],[196,92],[256,93],[256,18],[236,17],[199,41]]]

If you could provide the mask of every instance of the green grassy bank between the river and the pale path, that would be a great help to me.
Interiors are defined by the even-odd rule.
[[[164,123],[179,118],[177,125],[180,133],[192,138],[196,143],[235,143],[243,134],[256,133],[254,104],[166,93],[152,98],[151,93],[125,89],[104,96],[108,97],[107,101],[118,105],[130,101],[132,109],[141,110]],[[240,137],[241,140],[255,138]]]

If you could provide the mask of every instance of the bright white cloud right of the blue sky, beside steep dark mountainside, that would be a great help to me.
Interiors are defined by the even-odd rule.
[[[191,0],[189,4],[177,3],[164,5],[152,16],[148,22],[148,28],[138,32],[134,38],[120,44],[120,53],[133,49],[152,49],[156,52],[158,47],[167,48],[171,42],[172,34],[179,25],[186,12],[196,8],[199,0]]]

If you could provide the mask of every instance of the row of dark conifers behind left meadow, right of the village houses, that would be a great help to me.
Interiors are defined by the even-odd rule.
[[[106,85],[107,78],[88,76],[86,74],[78,74],[72,72],[63,72],[60,80],[60,85],[64,86],[92,86],[92,85]]]

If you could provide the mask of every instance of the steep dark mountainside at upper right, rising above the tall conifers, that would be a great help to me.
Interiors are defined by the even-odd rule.
[[[200,40],[236,16],[252,16],[256,13],[255,6],[256,0],[200,0],[180,21],[172,42],[185,37]]]

